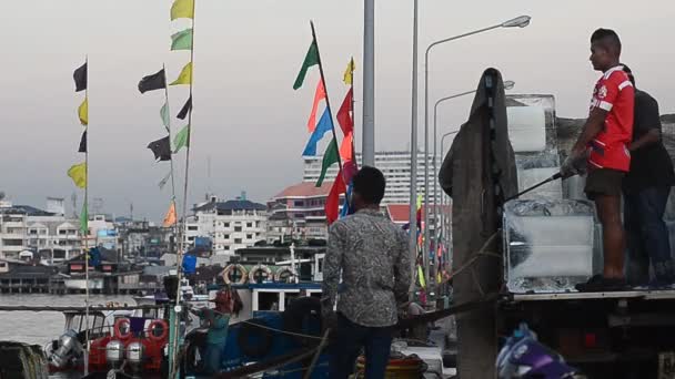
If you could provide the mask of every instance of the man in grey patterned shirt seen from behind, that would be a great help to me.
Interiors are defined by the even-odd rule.
[[[353,180],[351,203],[355,214],[335,222],[329,232],[322,313],[334,328],[331,379],[347,378],[362,348],[365,377],[384,378],[392,326],[397,322],[399,308],[409,299],[412,273],[407,235],[380,212],[384,187],[384,175],[377,168],[361,168]]]

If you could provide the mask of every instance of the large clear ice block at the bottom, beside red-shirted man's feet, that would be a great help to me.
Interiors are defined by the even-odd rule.
[[[513,201],[504,212],[510,291],[566,291],[593,275],[594,208],[585,201]]]

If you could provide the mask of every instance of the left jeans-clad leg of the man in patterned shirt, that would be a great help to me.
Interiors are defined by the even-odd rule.
[[[330,379],[346,379],[353,372],[365,334],[366,328],[338,314],[338,328],[331,331]]]

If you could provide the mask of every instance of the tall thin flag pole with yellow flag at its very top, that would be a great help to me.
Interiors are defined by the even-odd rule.
[[[189,100],[192,102],[190,109],[188,110],[188,137],[187,137],[187,152],[185,152],[185,178],[184,178],[184,186],[183,186],[183,209],[182,209],[182,225],[180,227],[180,248],[178,250],[178,254],[175,256],[175,269],[177,269],[177,279],[178,279],[178,289],[177,289],[177,294],[175,294],[175,304],[177,304],[177,308],[179,308],[180,306],[180,300],[181,300],[181,279],[182,279],[182,272],[181,272],[181,267],[182,267],[182,262],[183,262],[183,252],[185,249],[185,228],[187,228],[187,216],[188,216],[188,188],[189,188],[189,178],[190,178],[190,146],[192,145],[192,143],[190,142],[192,139],[192,110],[194,109],[194,100],[192,99],[192,86],[194,83],[194,10],[195,10],[195,3],[197,1],[193,0],[192,1],[192,37],[190,38],[190,65],[191,65],[191,70],[190,70],[190,95],[189,95]],[[179,315],[175,315],[174,317],[174,324],[173,324],[173,328],[174,328],[174,336],[175,338],[173,339],[173,365],[171,367],[171,378],[174,378],[175,375],[178,373],[178,340],[179,340],[179,326],[180,326],[180,321],[179,321]]]

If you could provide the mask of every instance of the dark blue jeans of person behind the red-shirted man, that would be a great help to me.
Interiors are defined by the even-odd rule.
[[[671,187],[648,187],[624,195],[624,224],[628,246],[626,276],[632,285],[649,283],[649,260],[659,284],[675,279],[668,228],[663,214]]]

